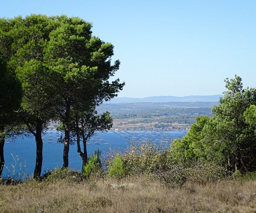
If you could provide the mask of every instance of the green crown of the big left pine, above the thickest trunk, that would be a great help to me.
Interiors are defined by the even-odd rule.
[[[35,14],[0,21],[0,53],[7,69],[16,73],[22,85],[22,107],[30,115],[47,121],[55,96],[49,89],[51,81],[44,63],[44,48],[54,27],[52,19]]]

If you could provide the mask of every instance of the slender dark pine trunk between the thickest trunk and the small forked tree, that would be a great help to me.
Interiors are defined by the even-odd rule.
[[[65,115],[65,136],[64,136],[64,150],[63,150],[63,166],[62,168],[68,167],[68,153],[70,146],[70,106],[67,106]]]

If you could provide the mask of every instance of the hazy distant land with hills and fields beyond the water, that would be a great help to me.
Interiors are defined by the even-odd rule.
[[[100,105],[97,111],[99,114],[110,112],[113,130],[187,130],[198,116],[211,117],[211,109],[218,106],[220,97],[222,95],[116,97]]]

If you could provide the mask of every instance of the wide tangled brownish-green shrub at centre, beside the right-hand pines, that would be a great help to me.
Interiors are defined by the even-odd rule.
[[[172,151],[176,144],[132,142],[122,155],[125,170],[130,175],[146,174],[157,178],[170,187],[182,186],[187,181],[207,183],[226,176],[226,169],[193,158],[182,158]]]

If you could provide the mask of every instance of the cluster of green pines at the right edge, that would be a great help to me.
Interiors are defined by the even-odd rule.
[[[199,117],[182,140],[176,140],[170,154],[187,161],[197,159],[242,173],[256,169],[256,90],[243,89],[241,78],[226,79],[224,98],[212,108],[212,118]]]

